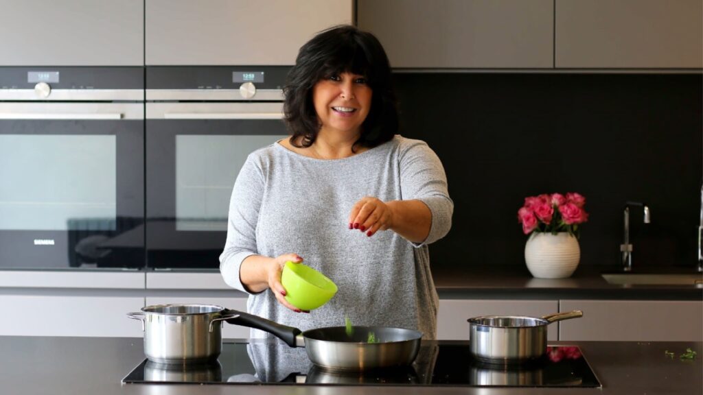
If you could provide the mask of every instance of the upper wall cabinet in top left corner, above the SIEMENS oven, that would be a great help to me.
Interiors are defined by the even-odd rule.
[[[0,0],[0,65],[141,66],[143,0]]]

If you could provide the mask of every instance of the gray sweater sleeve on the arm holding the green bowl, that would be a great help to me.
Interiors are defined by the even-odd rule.
[[[240,170],[232,190],[227,221],[227,240],[220,254],[220,273],[230,287],[251,294],[242,284],[242,261],[257,254],[256,229],[264,193],[264,175],[252,155]]]

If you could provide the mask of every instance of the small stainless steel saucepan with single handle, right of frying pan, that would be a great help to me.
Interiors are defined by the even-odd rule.
[[[547,325],[579,318],[580,310],[555,313],[542,318],[527,316],[482,316],[469,318],[470,350],[487,363],[524,363],[547,352]]]

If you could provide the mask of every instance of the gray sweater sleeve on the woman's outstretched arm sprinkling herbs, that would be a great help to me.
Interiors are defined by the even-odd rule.
[[[419,244],[413,243],[415,247],[422,247],[449,233],[454,203],[449,197],[444,167],[427,143],[406,139],[406,146],[401,148],[399,160],[403,200],[420,200],[432,213],[432,224],[427,238]]]

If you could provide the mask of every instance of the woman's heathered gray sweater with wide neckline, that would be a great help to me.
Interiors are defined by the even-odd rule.
[[[393,231],[371,237],[349,230],[348,216],[364,196],[417,199],[430,208],[430,235],[421,244]],[[252,254],[295,253],[339,288],[311,313],[281,306],[271,290],[250,294],[250,313],[309,330],[344,325],[412,328],[437,337],[437,290],[427,245],[451,227],[453,202],[439,157],[426,143],[392,141],[340,160],[318,160],[279,143],[254,151],[234,184],[227,241],[220,256],[225,282],[247,292],[239,278]],[[270,335],[252,330],[252,337]]]

